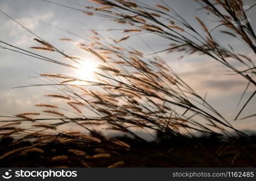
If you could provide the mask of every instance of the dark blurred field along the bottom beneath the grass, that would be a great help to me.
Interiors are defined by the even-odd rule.
[[[1,167],[255,167],[256,136],[232,138],[223,142],[215,136],[158,139],[142,144],[126,136],[116,138],[130,144],[130,149],[104,148],[103,145],[79,145],[77,142],[46,144],[1,140]],[[28,147],[33,145],[33,149]],[[106,155],[104,155],[106,154]],[[107,155],[109,154],[109,155]],[[95,155],[98,155],[98,157]],[[62,157],[61,157],[62,156]]]

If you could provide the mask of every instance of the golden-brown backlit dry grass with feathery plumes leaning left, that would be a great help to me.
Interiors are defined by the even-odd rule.
[[[197,19],[200,28],[203,28],[204,35],[200,33],[198,28],[192,27],[189,22],[186,22],[173,8],[165,3],[151,7],[142,3],[136,4],[132,1],[116,0],[110,2],[94,0],[92,2],[104,6],[86,7],[90,11],[84,9],[76,10],[82,11],[90,16],[107,17],[119,24],[128,24],[130,25],[130,29],[122,29],[120,31],[121,33],[129,33],[129,35],[119,40],[110,38],[113,42],[106,43],[107,41],[105,40],[108,37],[100,36],[100,33],[92,30],[93,36],[90,36],[92,41],[86,42],[84,40],[85,42],[78,42],[77,45],[79,49],[83,49],[101,61],[97,72],[95,72],[95,80],[81,80],[78,77],[70,77],[69,75],[62,74],[41,74],[41,77],[52,78],[54,82],[45,84],[45,86],[56,86],[61,91],[61,94],[49,94],[45,96],[68,101],[67,104],[72,110],[62,109],[62,105],[55,106],[48,103],[36,104],[35,106],[37,107],[47,107],[50,110],[42,110],[39,113],[19,113],[16,117],[20,119],[14,119],[13,121],[31,122],[31,125],[37,129],[32,129],[32,126],[32,128],[18,131],[15,130],[15,127],[11,127],[12,129],[5,127],[5,129],[0,130],[2,137],[8,135],[18,136],[19,139],[14,143],[30,138],[38,139],[39,144],[47,140],[59,141],[62,144],[76,142],[76,144],[83,144],[86,147],[100,147],[109,151],[109,153],[91,154],[89,156],[89,154],[86,154],[87,151],[76,150],[75,148],[69,149],[69,153],[76,156],[83,156],[79,160],[80,165],[90,167],[90,164],[83,160],[86,156],[87,159],[106,158],[110,157],[112,153],[118,154],[120,150],[127,151],[130,149],[130,145],[125,142],[107,139],[97,134],[96,131],[99,129],[104,129],[106,132],[107,130],[116,130],[126,133],[143,143],[147,141],[136,135],[135,129],[141,129],[150,134],[160,132],[166,135],[176,136],[183,136],[184,134],[195,136],[195,132],[200,132],[220,135],[223,139],[229,138],[231,132],[243,135],[242,132],[235,129],[229,121],[223,118],[217,112],[217,109],[207,103],[204,97],[198,95],[182,78],[178,77],[157,53],[178,51],[183,56],[189,56],[195,53],[204,54],[211,57],[213,61],[215,60],[223,64],[235,74],[241,75],[241,77],[248,81],[248,84],[256,86],[254,80],[255,65],[249,57],[232,51],[231,45],[229,45],[229,49],[220,45],[215,37],[212,37],[211,31],[213,30],[209,30],[200,17],[195,17],[195,19]],[[232,37],[239,37],[253,52],[256,52],[255,34],[249,22],[243,26],[232,24],[232,21],[239,22],[239,19],[235,16],[235,11],[241,10],[244,12],[241,7],[241,1],[216,1],[216,3],[212,3],[202,0],[200,4],[203,10],[215,16],[220,22],[220,25],[215,27],[216,29],[222,26],[228,28],[229,31],[221,30],[220,32]],[[246,13],[244,12],[244,14]],[[163,23],[161,21],[162,18],[168,21]],[[30,31],[30,33],[32,32]],[[130,35],[130,33],[135,34]],[[136,36],[136,33],[152,33],[159,37],[164,37],[170,41],[170,46],[161,51],[153,52],[149,58],[138,49],[129,49],[121,45],[121,42],[131,39],[132,36]],[[58,52],[63,57],[72,60],[75,65],[59,62],[50,57],[44,57],[34,52],[25,51],[24,49],[19,49],[19,51],[27,54],[27,56],[33,56],[37,59],[67,66],[70,69],[79,68],[79,61],[81,61],[79,57],[64,54],[63,51],[59,51],[58,48],[50,45],[50,43],[47,43],[38,36],[34,40],[41,46],[33,46],[31,47],[32,49]],[[72,42],[68,38],[59,40]],[[5,42],[1,43],[4,43],[5,46],[9,45]],[[11,48],[7,49],[13,51],[16,51],[18,48],[13,45],[9,46]],[[246,69],[239,69],[238,66],[229,63],[228,59],[233,59],[241,63]],[[65,80],[63,81],[63,79]],[[82,84],[76,84],[75,81],[79,81]],[[86,87],[83,86],[83,83],[86,84]],[[97,87],[97,89],[90,88],[88,85]],[[246,87],[244,92],[247,89],[248,87]],[[238,113],[235,119],[238,118],[254,94],[244,104],[243,108],[237,111]],[[72,116],[69,115],[70,112],[73,113]],[[93,112],[94,115],[90,116],[86,112]],[[44,116],[35,118],[36,116],[42,116],[44,113],[49,113],[54,117],[49,118]],[[33,118],[30,116],[33,116]],[[199,118],[203,119],[203,121],[198,121]],[[55,122],[52,122],[50,125],[42,124],[42,121],[45,120]],[[38,124],[35,124],[35,122]],[[59,129],[59,127],[63,125],[68,126],[70,123],[94,135],[89,136],[84,133],[72,133]],[[31,150],[31,147],[24,147],[21,150],[12,150],[5,153],[1,156],[1,159],[25,149],[40,152],[40,150],[35,150],[35,148]],[[167,155],[172,164],[180,166],[180,160],[173,157],[172,152],[161,149],[158,151],[162,155]],[[195,150],[195,152],[197,151],[200,150]],[[240,150],[237,151],[239,153],[241,152]],[[223,161],[223,158],[220,158],[218,154],[209,150],[207,153]],[[243,154],[243,152],[240,154]],[[66,155],[52,157],[53,161],[66,159],[68,159]],[[223,162],[226,162],[226,160]],[[119,167],[123,164],[124,162],[121,160],[110,164],[109,167]]]

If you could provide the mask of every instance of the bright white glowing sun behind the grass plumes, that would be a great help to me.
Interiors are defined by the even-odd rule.
[[[94,72],[97,70],[97,67],[98,67],[98,62],[93,60],[84,60],[78,66],[76,76],[81,80],[93,81],[95,80]]]

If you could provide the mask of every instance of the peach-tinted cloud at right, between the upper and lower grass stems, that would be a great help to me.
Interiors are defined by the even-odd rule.
[[[206,56],[188,56],[183,60],[172,61],[169,65],[181,79],[201,95],[206,92],[212,97],[238,94],[243,92],[244,86],[248,83],[240,75],[224,74],[229,69]]]

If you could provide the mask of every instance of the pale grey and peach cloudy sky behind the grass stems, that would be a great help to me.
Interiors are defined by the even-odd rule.
[[[78,4],[94,5],[89,1],[79,0],[55,0],[53,2],[59,2],[78,8],[81,8]],[[157,4],[160,1],[150,0],[141,2]],[[199,28],[199,25],[194,19],[194,16],[200,16],[200,12],[195,11],[198,8],[198,4],[195,4],[194,1],[189,1],[188,3],[187,0],[166,0],[165,2],[175,8],[184,19]],[[247,0],[244,1],[244,5],[252,5],[253,2],[254,1]],[[79,56],[84,55],[82,52],[77,51],[75,46],[70,46],[70,44],[66,42],[59,42],[58,39],[69,37],[76,41],[83,40],[66,31],[59,30],[58,27],[72,31],[81,37],[86,37],[90,34],[90,32],[87,31],[88,29],[109,29],[118,26],[104,18],[86,16],[78,11],[39,0],[1,0],[0,10],[12,16],[24,25],[24,27],[33,31],[33,33],[47,40],[47,42],[52,43],[59,49],[64,49],[67,53]],[[253,18],[255,15],[255,8],[248,12],[252,28],[256,30],[256,22]],[[204,17],[204,21],[207,22],[207,26],[209,26],[210,29],[216,25],[211,19],[211,17]],[[27,32],[2,13],[0,13],[0,22],[0,40],[24,49],[29,49],[30,46],[36,45],[33,41],[33,38],[35,38],[33,34]],[[113,31],[100,31],[100,33],[102,33],[103,36],[115,36],[116,39],[123,36]],[[213,32],[213,34],[214,33],[215,32]],[[237,48],[238,51],[246,53],[251,59],[255,59],[255,55],[248,51],[238,40],[218,34],[217,36],[221,36],[221,43],[229,42]],[[143,51],[144,54],[152,52],[143,41],[147,42],[154,51],[163,49],[169,44],[169,42],[165,40],[146,34],[131,38],[124,45],[138,48]],[[49,94],[49,92],[53,91],[50,87],[23,87],[16,89],[13,89],[13,87],[26,86],[39,82],[42,83],[42,80],[36,78],[38,74],[41,73],[68,71],[64,67],[56,66],[49,62],[43,62],[42,60],[36,60],[35,58],[27,57],[6,49],[0,49],[0,54],[0,115],[3,116],[12,116],[19,112],[33,111],[35,110],[33,105],[43,101],[42,99],[44,99],[44,97],[42,97],[42,95]],[[50,53],[46,52],[44,55],[50,55]],[[180,77],[200,95],[203,96],[207,92],[207,101],[222,113],[232,125],[240,130],[256,130],[256,121],[254,118],[243,121],[233,121],[237,110],[243,105],[240,104],[237,106],[244,86],[246,86],[246,81],[244,81],[243,78],[239,75],[225,75],[224,73],[227,69],[207,56],[194,54],[189,57],[184,57],[183,59],[178,59],[178,57],[181,56],[180,53],[163,53],[161,56],[166,60],[173,71],[180,75]],[[54,57],[61,59],[58,55]],[[250,87],[242,103],[252,94],[253,90],[254,88]],[[251,103],[248,104],[248,107],[241,116],[255,113],[255,107],[256,98],[251,100]]]

